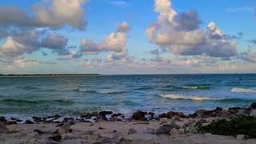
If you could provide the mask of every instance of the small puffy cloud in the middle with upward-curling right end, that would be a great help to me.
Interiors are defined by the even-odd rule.
[[[127,22],[123,22],[118,25],[118,29],[115,32],[110,33],[102,42],[94,42],[93,40],[84,38],[80,42],[80,50],[85,54],[101,51],[122,53],[126,50],[126,33],[128,30],[130,30],[130,26]]]

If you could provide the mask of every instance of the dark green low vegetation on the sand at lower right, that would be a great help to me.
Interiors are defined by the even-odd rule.
[[[245,134],[247,138],[256,138],[256,118],[251,116],[242,116],[232,118],[230,121],[217,120],[210,125],[202,126],[198,123],[199,133],[210,133],[219,135],[237,136]]]

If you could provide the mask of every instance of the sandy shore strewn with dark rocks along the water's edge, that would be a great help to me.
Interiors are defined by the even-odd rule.
[[[233,122],[235,118],[248,118],[256,122],[255,116],[256,102],[247,108],[224,110],[217,107],[188,115],[138,110],[131,117],[124,117],[112,111],[101,111],[79,118],[34,116],[24,124],[16,118],[0,117],[0,143],[256,143],[254,134],[218,135],[202,131],[214,126],[216,121],[218,124],[223,120]]]

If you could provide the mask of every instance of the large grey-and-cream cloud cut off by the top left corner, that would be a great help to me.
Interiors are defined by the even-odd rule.
[[[32,11],[13,6],[0,6],[0,25],[59,27],[70,25],[78,29],[86,26],[83,4],[86,0],[51,0],[38,2]],[[10,17],[11,15],[11,17]]]

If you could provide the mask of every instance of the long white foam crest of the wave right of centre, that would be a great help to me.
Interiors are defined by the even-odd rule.
[[[170,98],[170,99],[187,99],[187,100],[194,100],[194,101],[217,101],[222,100],[222,98],[210,98],[210,97],[202,97],[202,96],[185,96],[181,94],[160,94],[163,98]]]

